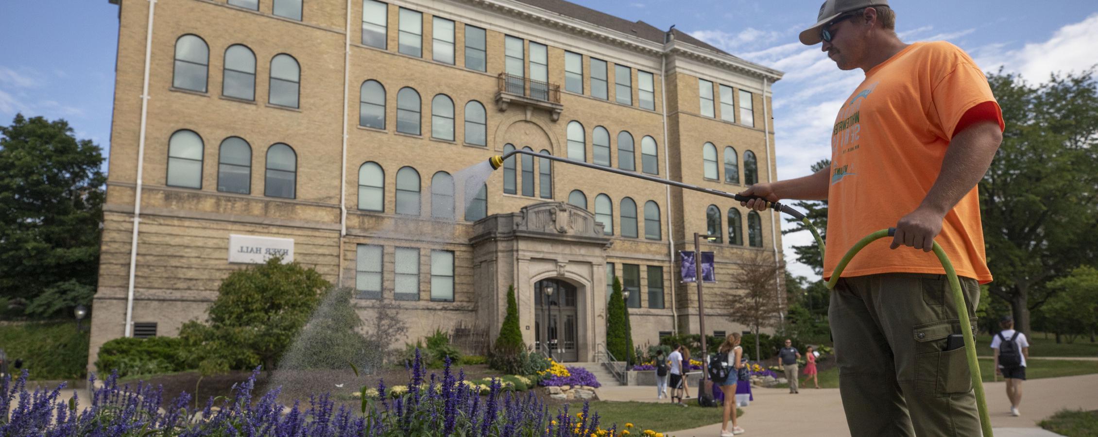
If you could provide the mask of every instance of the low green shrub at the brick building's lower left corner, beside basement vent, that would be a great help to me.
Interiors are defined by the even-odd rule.
[[[99,348],[100,373],[117,370],[120,377],[188,370],[183,341],[176,337],[115,338]]]

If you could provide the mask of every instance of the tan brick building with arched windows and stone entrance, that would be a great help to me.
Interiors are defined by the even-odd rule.
[[[776,179],[782,72],[677,30],[562,0],[111,2],[92,362],[204,320],[220,281],[270,254],[355,287],[363,318],[393,302],[413,340],[494,336],[514,284],[524,338],[567,361],[605,341],[613,276],[638,344],[697,332],[674,266],[695,232],[718,278],[782,256],[769,211],[608,172],[519,156],[461,187],[515,147],[731,192]],[[741,329],[728,281],[706,290],[708,334]]]

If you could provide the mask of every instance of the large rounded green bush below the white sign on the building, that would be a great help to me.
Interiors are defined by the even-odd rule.
[[[179,336],[203,373],[260,363],[270,372],[329,288],[316,270],[273,257],[225,278],[209,325],[188,322]]]

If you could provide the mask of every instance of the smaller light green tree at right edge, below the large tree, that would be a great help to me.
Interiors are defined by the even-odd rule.
[[[1049,288],[1056,293],[1041,312],[1056,334],[1056,343],[1061,335],[1073,343],[1076,336],[1087,334],[1094,341],[1095,330],[1098,330],[1098,269],[1076,268],[1071,274],[1051,281]]]

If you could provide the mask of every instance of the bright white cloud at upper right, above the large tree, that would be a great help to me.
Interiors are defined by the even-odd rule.
[[[1098,41],[1098,13],[1056,30],[1052,37],[1040,43],[1028,43],[1021,48],[1002,53],[998,46],[979,47],[976,64],[985,71],[1019,72],[1027,80],[1041,82],[1056,71],[1083,71],[1098,63],[1094,42]]]

